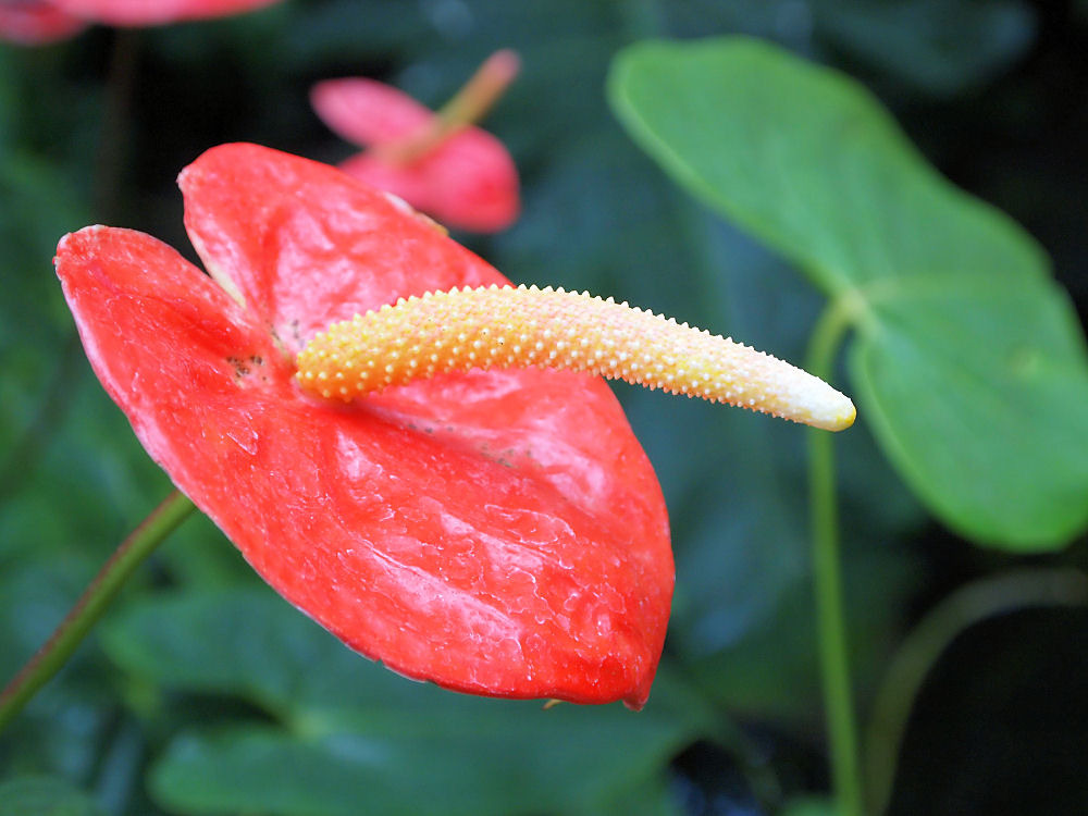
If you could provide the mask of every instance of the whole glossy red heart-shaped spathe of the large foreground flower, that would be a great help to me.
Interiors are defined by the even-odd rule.
[[[181,185],[189,235],[235,297],[140,233],[88,227],[57,261],[96,372],[177,486],[288,601],[397,671],[644,703],[672,559],[607,386],[533,369],[346,408],[306,397],[294,353],[329,322],[505,279],[304,159],[227,145]]]

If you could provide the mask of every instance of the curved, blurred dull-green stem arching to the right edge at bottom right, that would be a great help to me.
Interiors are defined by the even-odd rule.
[[[935,606],[903,641],[877,691],[866,729],[869,811],[882,814],[911,707],[938,658],[964,630],[1031,606],[1088,604],[1088,576],[1075,569],[1026,568],[961,586]]]

